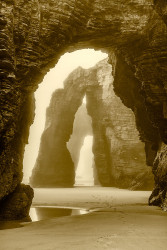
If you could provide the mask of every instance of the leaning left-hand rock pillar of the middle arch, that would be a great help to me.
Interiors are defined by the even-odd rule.
[[[76,75],[80,75],[80,68],[76,70]],[[64,89],[53,93],[47,109],[39,157],[30,180],[33,187],[73,186],[74,163],[66,143],[72,134],[75,113],[84,94],[85,85],[72,76],[69,76],[68,82],[65,81]]]

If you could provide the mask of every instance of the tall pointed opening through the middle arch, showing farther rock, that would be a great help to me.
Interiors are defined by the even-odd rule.
[[[78,108],[73,131],[67,142],[75,168],[75,186],[99,185],[97,170],[94,162],[92,119],[86,108],[86,95]]]

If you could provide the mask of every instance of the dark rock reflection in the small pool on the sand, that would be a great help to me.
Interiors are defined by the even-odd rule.
[[[72,209],[55,207],[37,207],[35,208],[38,220],[45,220],[53,217],[71,215]]]

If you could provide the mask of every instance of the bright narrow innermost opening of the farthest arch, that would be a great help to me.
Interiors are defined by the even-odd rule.
[[[76,171],[76,185],[94,185],[92,142],[93,136],[85,137]]]

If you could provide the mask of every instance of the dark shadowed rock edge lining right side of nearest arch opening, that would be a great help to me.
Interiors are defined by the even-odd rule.
[[[116,60],[111,56],[110,59],[113,65],[114,91],[124,105],[133,111],[140,140],[145,142],[147,165],[152,166],[159,147],[160,135],[147,115],[140,82],[121,56]],[[159,110],[157,110],[158,112]]]

